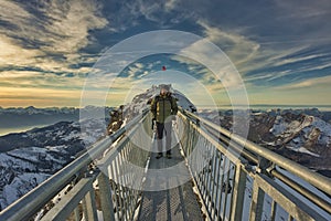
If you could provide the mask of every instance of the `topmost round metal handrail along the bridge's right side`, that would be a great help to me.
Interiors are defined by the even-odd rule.
[[[290,159],[287,159],[265,147],[256,145],[236,134],[233,134],[232,131],[221,127],[220,125],[216,125],[207,119],[204,119],[191,112],[184,110],[183,108],[180,108],[180,112],[182,114],[197,120],[199,123],[203,123],[205,126],[226,136],[232,141],[235,141],[238,145],[245,147],[246,149],[255,152],[256,155],[264,157],[265,159],[278,165],[279,167],[288,170],[292,175],[300,177],[301,179],[303,179],[307,182],[311,183],[312,186],[317,187],[321,191],[327,192],[329,196],[331,196],[331,179],[330,178],[324,177],[318,172],[313,172],[313,171],[309,170],[307,167],[303,167]]]

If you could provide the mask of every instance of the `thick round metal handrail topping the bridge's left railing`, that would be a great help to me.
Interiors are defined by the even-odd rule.
[[[136,116],[125,127],[121,127],[115,134],[92,145],[82,156],[2,210],[0,212],[0,220],[29,220],[29,218],[39,212],[43,206],[51,201],[58,191],[73,181],[76,175],[81,173],[81,171],[86,171],[88,165],[94,159],[99,157],[114,141],[130,130],[147,114],[148,109],[143,109],[141,114]]]

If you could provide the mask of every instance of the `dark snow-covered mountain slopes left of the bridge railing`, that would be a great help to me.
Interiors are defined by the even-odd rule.
[[[88,119],[81,133],[78,122],[0,137],[0,209],[36,187],[75,159],[85,147],[105,135],[105,122]]]

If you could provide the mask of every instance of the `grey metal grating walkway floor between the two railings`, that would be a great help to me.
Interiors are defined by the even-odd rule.
[[[172,148],[172,158],[168,159],[164,156],[160,159],[156,158],[156,154],[151,155],[149,164],[149,170],[170,168],[174,165],[183,161],[184,158],[181,156],[179,145]],[[189,176],[189,169],[183,168],[179,173],[186,173]],[[156,181],[154,179],[159,179]],[[150,176],[147,172],[146,182],[163,182],[166,190],[160,191],[143,191],[142,201],[139,210],[138,220],[141,221],[180,221],[180,220],[203,220],[201,208],[196,201],[197,196],[193,192],[192,181],[188,181],[175,188],[168,188],[170,186],[169,179],[163,177]]]

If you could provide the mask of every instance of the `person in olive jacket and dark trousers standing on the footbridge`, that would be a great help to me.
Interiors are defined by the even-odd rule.
[[[169,85],[160,85],[160,94],[153,97],[151,101],[151,113],[153,114],[153,120],[157,124],[157,140],[158,140],[158,155],[157,159],[163,156],[162,154],[162,138],[166,134],[166,149],[167,158],[171,158],[171,130],[172,120],[175,119],[178,112],[177,99],[170,93]]]

